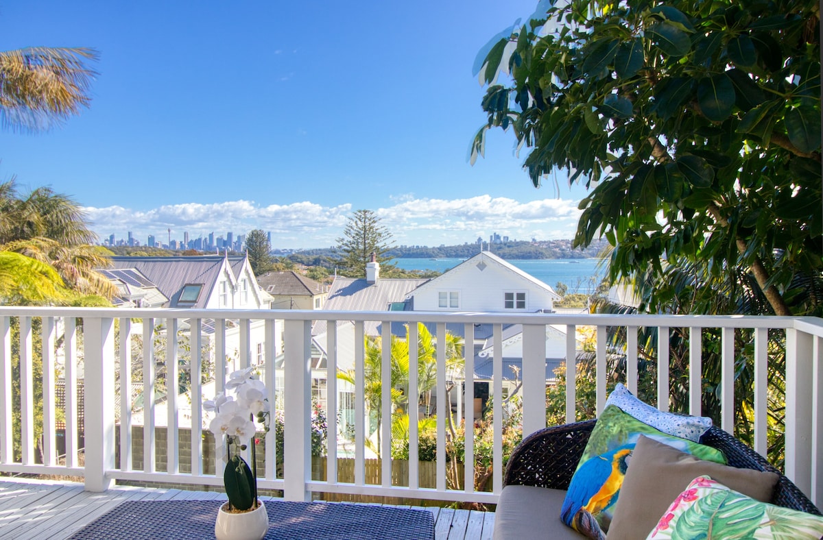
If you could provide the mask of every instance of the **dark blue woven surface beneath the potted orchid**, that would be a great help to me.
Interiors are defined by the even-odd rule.
[[[214,538],[217,509],[224,502],[127,501],[87,524],[71,538]],[[346,503],[265,502],[269,523],[266,538],[435,538],[435,520],[427,510]]]

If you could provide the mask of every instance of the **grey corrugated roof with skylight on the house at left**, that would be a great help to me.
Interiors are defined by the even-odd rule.
[[[243,267],[244,256],[228,257],[230,271]],[[220,275],[226,256],[113,256],[114,268],[135,268],[169,298],[167,307],[204,308]],[[235,275],[236,277],[236,275]],[[178,305],[186,284],[202,284],[197,302]]]

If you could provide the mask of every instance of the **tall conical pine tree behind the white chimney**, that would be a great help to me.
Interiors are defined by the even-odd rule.
[[[391,257],[385,253],[393,244],[392,233],[380,224],[380,218],[372,210],[356,210],[346,219],[343,236],[337,238],[337,251],[341,258],[337,261],[342,275],[361,278],[365,276],[365,265],[371,260],[371,254],[380,263],[381,271],[391,271],[394,265],[388,264]]]

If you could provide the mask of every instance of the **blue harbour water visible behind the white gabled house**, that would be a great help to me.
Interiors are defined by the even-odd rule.
[[[402,270],[436,270],[444,272],[463,259],[393,259]],[[593,293],[606,271],[601,259],[528,259],[508,261],[520,270],[540,279],[552,288],[560,282],[568,293]]]

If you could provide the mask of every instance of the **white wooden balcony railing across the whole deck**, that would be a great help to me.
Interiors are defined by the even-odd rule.
[[[39,322],[42,334],[35,335],[33,328]],[[77,322],[76,322],[77,321]],[[208,321],[209,324],[204,323]],[[210,324],[214,321],[214,324]],[[354,482],[338,482],[338,443],[342,436],[338,432],[339,404],[337,378],[328,376],[328,445],[326,448],[326,478],[328,481],[313,480],[311,474],[311,379],[317,375],[316,365],[312,365],[313,321],[326,321],[328,332],[319,344],[328,351],[328,366],[353,365],[354,388]],[[342,322],[346,322],[345,330]],[[81,325],[77,323],[81,323]],[[337,322],[337,324],[334,324]],[[409,474],[407,485],[393,485],[391,459],[380,462],[381,480],[379,484],[365,481],[366,444],[368,422],[366,418],[364,394],[364,335],[367,330],[379,324],[384,340],[388,340],[395,323],[424,322],[435,328],[433,334],[438,343],[443,343],[446,325],[464,325],[465,335],[474,335],[474,327],[491,324],[494,344],[494,376],[491,383],[491,411],[494,422],[492,491],[474,490],[475,443],[472,436],[465,442],[465,478],[460,482],[462,489],[447,489],[446,480],[446,356],[444,348],[436,354],[436,485],[421,487],[418,482],[419,434],[416,407],[409,408]],[[188,328],[190,339],[166,339],[162,354],[155,358],[156,335],[154,330],[162,323],[165,335],[178,335],[182,328]],[[264,489],[283,490],[290,500],[308,499],[313,492],[343,493],[373,496],[402,496],[417,499],[444,501],[477,501],[494,503],[502,489],[503,475],[503,328],[504,325],[523,325],[523,433],[528,434],[546,425],[546,325],[554,328],[565,326],[565,358],[575,358],[578,351],[577,332],[580,327],[594,327],[596,335],[597,367],[597,411],[602,410],[607,397],[607,329],[622,327],[627,330],[625,381],[630,390],[637,389],[636,353],[638,330],[658,329],[658,404],[667,408],[669,402],[669,356],[668,339],[672,328],[688,329],[690,335],[689,367],[690,412],[700,413],[701,381],[701,335],[702,329],[719,329],[720,350],[722,351],[721,385],[721,427],[731,432],[735,418],[734,411],[734,358],[735,330],[751,329],[753,342],[746,350],[751,350],[754,364],[754,446],[761,454],[766,453],[767,418],[775,411],[768,410],[770,387],[767,383],[767,365],[774,351],[769,344],[770,330],[784,331],[785,343],[785,411],[777,411],[785,419],[785,473],[798,487],[815,501],[823,505],[823,320],[804,317],[747,317],[747,316],[592,316],[554,314],[501,314],[501,313],[428,313],[428,312],[303,312],[303,311],[188,311],[188,310],[140,310],[140,309],[91,309],[91,308],[49,308],[49,307],[0,307],[0,472],[58,474],[85,478],[86,489],[102,491],[114,480],[186,483],[219,486],[222,484],[222,466],[217,465],[217,475],[204,473],[203,463],[205,430],[202,428],[202,412],[198,406],[204,399],[203,385],[193,377],[188,394],[181,394],[179,388],[179,360],[190,358],[188,369],[192,373],[201,370],[202,358],[233,358],[234,366],[226,362],[216,362],[216,390],[222,389],[226,381],[227,369],[247,367],[262,361],[262,371],[267,383],[269,399],[276,404],[285,419],[284,456],[285,467],[278,475],[276,449],[272,430],[267,434],[265,446],[265,472],[258,485]],[[142,327],[142,329],[141,329]],[[213,327],[213,332],[212,332]],[[410,324],[410,339],[416,340],[416,325]],[[192,331],[193,329],[193,331]],[[200,329],[198,331],[197,329]],[[207,330],[204,330],[207,329]],[[352,332],[351,337],[342,332]],[[137,337],[134,337],[137,335]],[[141,339],[142,352],[134,347],[134,340]],[[115,339],[119,340],[115,344]],[[41,348],[35,348],[40,341]],[[261,346],[258,348],[258,340]],[[347,341],[346,341],[347,340]],[[346,341],[355,344],[343,347]],[[315,347],[316,348],[316,347]],[[353,348],[353,350],[351,350]],[[12,370],[12,349],[19,357],[19,368]],[[277,353],[283,351],[281,366],[276,366]],[[409,387],[417,385],[416,348],[409,362]],[[135,352],[137,351],[137,352]],[[208,351],[193,354],[192,351]],[[36,353],[42,357],[42,381],[35,381]],[[739,353],[740,351],[737,351]],[[137,354],[137,358],[132,358]],[[211,356],[210,356],[211,355]],[[354,358],[346,358],[353,355]],[[165,359],[160,358],[165,356]],[[474,378],[475,366],[472,347],[464,348],[465,363],[462,368],[466,381]],[[162,360],[162,362],[157,362]],[[382,384],[390,385],[388,379],[391,358],[388,348],[382,356]],[[117,376],[117,372],[133,371],[142,367],[142,374],[133,377]],[[165,369],[165,377],[158,378],[156,370]],[[186,369],[186,366],[184,366]],[[568,380],[574,381],[574,363],[568,367]],[[58,406],[56,376],[64,381],[64,404]],[[330,370],[329,370],[330,372]],[[452,374],[451,376],[454,376]],[[78,416],[78,381],[83,381],[84,417]],[[156,396],[157,385],[165,381],[165,399],[149,399]],[[678,384],[680,384],[678,382]],[[12,402],[12,385],[19,385],[19,402]],[[140,388],[142,385],[142,389]],[[35,397],[40,395],[42,399]],[[35,392],[35,390],[38,390]],[[471,395],[471,394],[470,394]],[[211,397],[211,396],[205,396]],[[191,401],[188,413],[188,401]],[[42,403],[42,424],[44,435],[35,438],[39,432],[35,418],[35,408]],[[142,404],[141,404],[142,402]],[[570,385],[565,396],[565,416],[567,421],[576,418],[574,385]],[[465,406],[468,405],[468,406]],[[119,414],[116,410],[119,408]],[[159,412],[165,408],[163,418]],[[382,396],[382,409],[391,408],[388,393]],[[465,425],[474,423],[472,403],[461,404]],[[19,411],[19,420],[13,420],[13,412]],[[116,418],[119,417],[119,418]],[[190,424],[190,445],[180,444],[181,418]],[[190,417],[190,418],[189,418]],[[137,422],[142,418],[141,422]],[[165,451],[156,449],[156,422],[165,420]],[[62,419],[65,429],[65,459],[59,459],[57,451],[58,420]],[[138,426],[142,424],[142,429]],[[116,432],[119,435],[116,436]],[[142,432],[142,447],[133,441],[133,434]],[[378,427],[379,442],[384,449],[391,445],[391,418],[382,416]],[[78,460],[78,436],[83,436],[85,444],[85,464]],[[119,438],[119,450],[115,448]],[[40,441],[40,442],[39,442]],[[184,439],[184,443],[188,441]],[[205,443],[209,444],[209,443]],[[190,446],[190,448],[188,448]],[[142,468],[133,470],[133,452],[142,451]],[[36,450],[36,451],[35,451]],[[115,466],[119,453],[119,466]],[[190,455],[187,455],[190,454]],[[388,456],[388,451],[384,451]],[[38,456],[38,457],[35,457]],[[42,456],[42,457],[39,457]],[[158,458],[165,460],[165,470],[158,470]],[[191,464],[190,471],[181,472],[182,462]],[[188,466],[186,467],[188,468]],[[214,469],[212,469],[214,470]],[[395,481],[396,482],[396,481]]]

